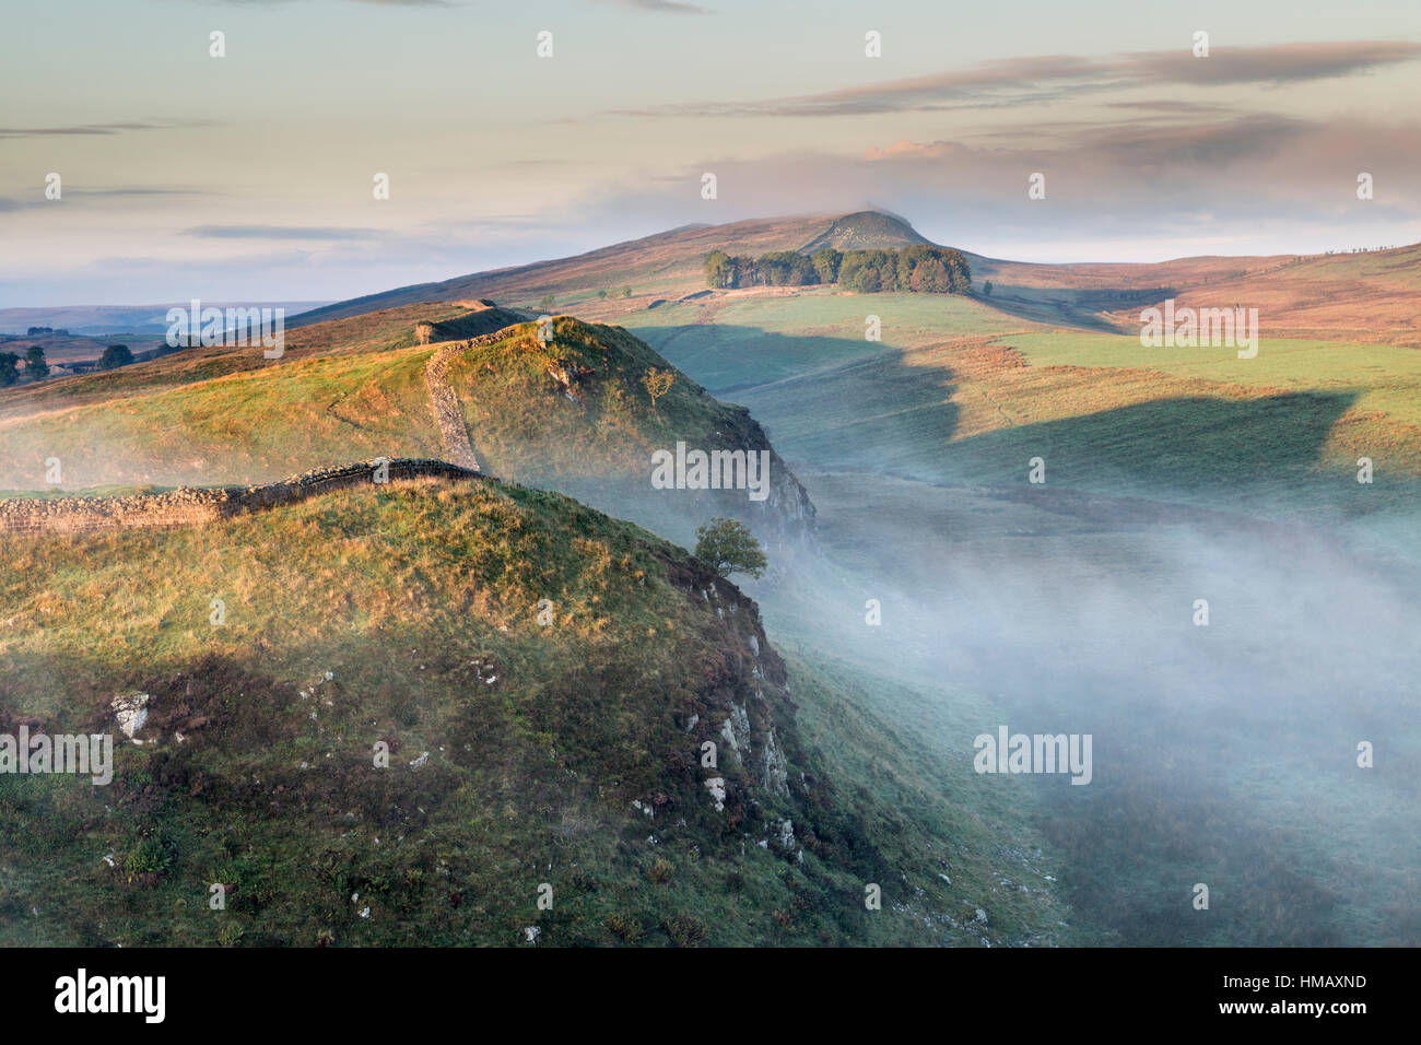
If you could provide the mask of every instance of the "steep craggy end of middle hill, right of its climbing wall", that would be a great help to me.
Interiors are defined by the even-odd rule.
[[[472,466],[476,445],[480,466],[681,543],[713,516],[742,519],[772,546],[813,540],[814,505],[749,411],[621,327],[519,324],[436,345],[425,373],[452,461]],[[678,463],[666,482],[658,461],[682,449],[735,468],[686,475]]]

